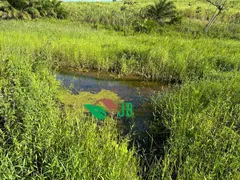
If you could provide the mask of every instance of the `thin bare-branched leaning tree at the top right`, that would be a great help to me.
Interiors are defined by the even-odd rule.
[[[217,20],[217,17],[227,9],[227,0],[206,0],[208,3],[216,7],[212,18],[209,20],[206,25],[205,32],[208,32],[210,26]]]

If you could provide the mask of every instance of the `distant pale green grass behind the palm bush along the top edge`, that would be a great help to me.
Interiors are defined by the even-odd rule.
[[[132,33],[134,27],[138,23],[145,25],[139,18],[142,10],[147,6],[153,4],[155,1],[127,1],[132,3],[115,2],[115,3],[63,3],[64,7],[69,11],[69,18],[73,21],[80,21],[92,24],[93,27],[98,28],[104,25],[108,29],[117,31],[124,31],[129,34]],[[189,21],[198,20],[204,25],[214,14],[214,7],[206,1],[174,1],[177,7],[177,12],[183,18]],[[237,1],[230,1],[228,10],[223,11],[222,15],[218,17],[217,23],[238,23],[239,24],[239,7],[240,3]],[[153,27],[151,27],[153,26]],[[150,29],[154,29],[151,25]],[[204,27],[203,27],[204,28]],[[238,27],[239,28],[239,27]]]

